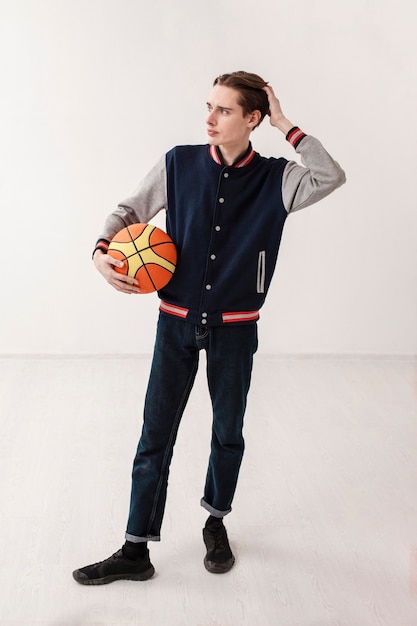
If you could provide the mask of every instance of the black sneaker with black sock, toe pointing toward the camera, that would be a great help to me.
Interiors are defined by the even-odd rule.
[[[235,557],[230,549],[227,532],[221,519],[210,517],[203,528],[207,554],[204,566],[212,574],[225,574],[232,569]]]

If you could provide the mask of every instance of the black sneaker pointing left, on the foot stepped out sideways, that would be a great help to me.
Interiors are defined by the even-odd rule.
[[[115,580],[148,580],[155,573],[155,568],[146,555],[136,561],[127,559],[122,550],[118,550],[105,561],[76,569],[72,573],[80,585],[106,585]]]

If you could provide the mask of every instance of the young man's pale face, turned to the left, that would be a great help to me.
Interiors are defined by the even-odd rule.
[[[253,115],[244,115],[238,104],[236,89],[215,85],[207,102],[206,118],[208,143],[228,149],[246,149],[254,126]]]

